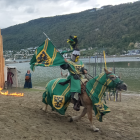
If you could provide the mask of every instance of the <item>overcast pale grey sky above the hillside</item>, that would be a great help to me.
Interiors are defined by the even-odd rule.
[[[127,2],[133,0],[0,0],[0,28],[41,17],[76,13]]]

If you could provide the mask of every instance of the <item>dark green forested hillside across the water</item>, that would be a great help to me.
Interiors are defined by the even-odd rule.
[[[106,48],[122,53],[140,42],[140,2],[106,6],[80,13],[39,18],[2,29],[4,50],[39,46],[45,32],[57,48],[68,47],[69,35],[77,35],[79,48]]]

